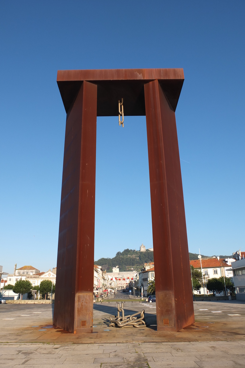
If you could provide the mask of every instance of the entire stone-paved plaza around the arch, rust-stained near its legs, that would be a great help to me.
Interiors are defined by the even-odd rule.
[[[111,328],[116,302],[94,304],[93,333],[52,325],[52,304],[0,305],[0,367],[244,367],[245,304],[194,302],[195,323],[156,331],[156,305],[125,299],[125,312],[145,309],[145,328]]]

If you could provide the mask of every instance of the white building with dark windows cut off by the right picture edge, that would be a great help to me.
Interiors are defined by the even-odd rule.
[[[241,256],[241,254],[239,256]],[[237,300],[245,300],[245,258],[242,257],[241,259],[232,262],[231,267],[233,272],[233,283],[236,290],[236,298]]]

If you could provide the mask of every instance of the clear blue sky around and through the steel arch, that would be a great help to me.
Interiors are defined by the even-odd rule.
[[[244,1],[0,2],[0,264],[56,266],[59,69],[184,68],[176,110],[189,251],[244,251]],[[145,117],[97,118],[95,260],[152,247]]]

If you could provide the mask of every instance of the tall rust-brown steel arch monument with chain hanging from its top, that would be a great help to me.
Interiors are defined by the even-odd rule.
[[[195,321],[175,122],[183,82],[182,69],[58,71],[67,118],[55,326],[92,332],[96,116],[118,116],[118,101],[119,120],[123,113],[146,116],[157,330],[178,331]]]

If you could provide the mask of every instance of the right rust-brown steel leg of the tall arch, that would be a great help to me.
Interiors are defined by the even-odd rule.
[[[157,80],[145,84],[157,330],[195,322],[175,113]]]

